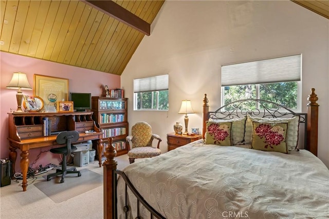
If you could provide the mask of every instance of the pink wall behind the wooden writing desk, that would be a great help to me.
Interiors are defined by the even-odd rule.
[[[8,137],[8,112],[10,109],[17,108],[16,90],[6,89],[9,84],[12,73],[21,71],[27,74],[27,78],[31,87],[33,87],[33,75],[41,74],[54,77],[62,77],[69,79],[69,92],[86,92],[92,93],[92,96],[100,96],[103,87],[108,86],[109,89],[120,88],[120,76],[108,74],[99,71],[93,71],[84,68],[78,68],[69,65],[63,65],[41,59],[25,57],[5,52],[0,52],[1,71],[0,71],[0,157],[9,157]],[[33,90],[23,90],[23,94],[33,95]],[[59,155],[54,155],[48,151],[50,148],[33,149],[30,151],[29,159],[32,168],[40,164],[45,166],[49,163],[59,164]],[[44,153],[46,152],[46,153]],[[19,166],[20,150],[17,150],[16,172],[20,172]],[[38,155],[40,157],[38,159]]]

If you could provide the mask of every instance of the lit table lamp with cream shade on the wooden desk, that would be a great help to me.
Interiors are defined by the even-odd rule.
[[[26,74],[22,72],[14,72],[9,85],[6,88],[18,90],[16,93],[17,110],[14,112],[24,112],[22,110],[23,92],[21,90],[32,90],[29,82],[27,81]]]

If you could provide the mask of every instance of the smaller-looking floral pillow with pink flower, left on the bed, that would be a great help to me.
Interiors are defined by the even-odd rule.
[[[231,141],[232,122],[209,122],[206,125],[205,144],[232,146]]]

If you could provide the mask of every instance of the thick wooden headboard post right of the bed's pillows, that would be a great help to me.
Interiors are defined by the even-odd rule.
[[[318,117],[319,99],[315,94],[315,89],[311,89],[312,93],[307,97],[307,149],[314,155],[318,156]]]

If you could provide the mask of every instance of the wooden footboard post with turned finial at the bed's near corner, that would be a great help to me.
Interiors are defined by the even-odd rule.
[[[113,138],[108,138],[108,146],[105,148],[104,155],[106,160],[103,163],[104,171],[104,218],[113,219],[116,217],[116,177],[114,170],[117,169],[117,161],[114,157],[117,155],[112,146]]]

